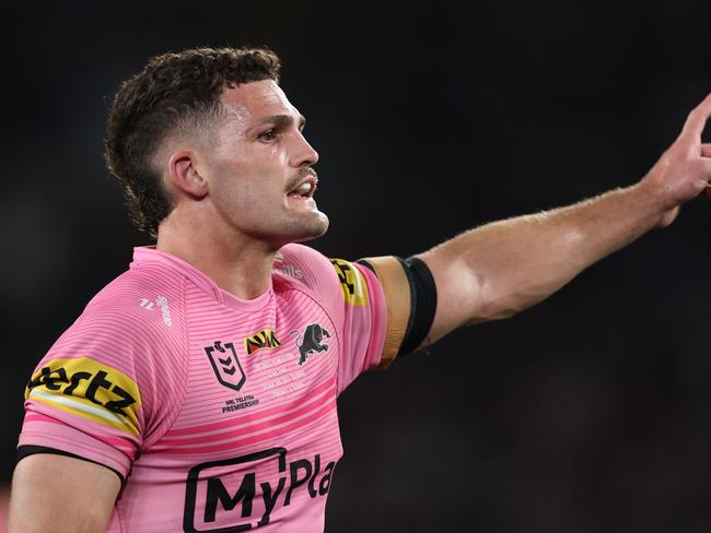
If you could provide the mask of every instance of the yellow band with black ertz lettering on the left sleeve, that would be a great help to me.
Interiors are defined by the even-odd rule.
[[[25,399],[138,435],[138,384],[89,357],[51,359],[32,376]]]

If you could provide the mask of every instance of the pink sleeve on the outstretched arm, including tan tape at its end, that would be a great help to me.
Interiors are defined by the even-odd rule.
[[[386,367],[399,352],[410,315],[410,288],[396,258],[369,264],[328,259],[301,245],[282,248],[280,261],[303,272],[338,331],[338,392],[370,368]]]

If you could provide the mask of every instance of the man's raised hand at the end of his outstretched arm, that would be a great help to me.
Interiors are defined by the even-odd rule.
[[[689,114],[677,140],[640,182],[664,210],[660,227],[674,222],[684,202],[699,194],[711,198],[711,143],[701,142],[710,116],[711,94]]]

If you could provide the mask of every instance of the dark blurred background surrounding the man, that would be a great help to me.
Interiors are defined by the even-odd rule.
[[[55,2],[3,8],[0,474],[24,384],[148,244],[103,167],[153,55],[269,45],[320,154],[314,246],[422,251],[627,186],[711,91],[708,0]],[[360,378],[328,532],[708,532],[711,204],[543,305]]]

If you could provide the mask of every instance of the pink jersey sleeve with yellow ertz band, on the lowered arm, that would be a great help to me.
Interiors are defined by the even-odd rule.
[[[176,368],[170,328],[126,306],[90,306],[49,350],[25,388],[22,459],[56,452],[102,464],[126,479],[140,450],[171,422]],[[171,324],[179,328],[178,320]],[[179,389],[179,387],[177,388]],[[159,394],[161,399],[159,401]]]

